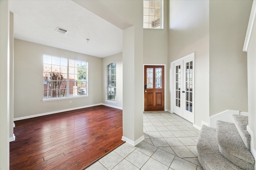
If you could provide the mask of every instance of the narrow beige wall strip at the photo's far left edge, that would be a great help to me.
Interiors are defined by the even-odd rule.
[[[0,170],[8,170],[10,161],[10,11],[9,2],[5,0],[0,0],[0,23]]]

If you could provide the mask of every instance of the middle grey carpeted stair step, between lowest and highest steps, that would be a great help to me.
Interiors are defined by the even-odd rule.
[[[254,157],[245,147],[234,123],[216,121],[216,133],[220,153],[244,170],[254,170]]]

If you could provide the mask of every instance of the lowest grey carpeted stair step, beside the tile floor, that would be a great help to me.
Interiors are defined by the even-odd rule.
[[[204,170],[242,170],[220,153],[214,128],[202,125],[196,149]]]

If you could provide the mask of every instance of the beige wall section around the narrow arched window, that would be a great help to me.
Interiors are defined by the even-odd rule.
[[[116,63],[116,103],[108,102],[108,65]],[[123,101],[123,63],[122,53],[104,57],[102,59],[102,103],[113,107],[122,108]]]

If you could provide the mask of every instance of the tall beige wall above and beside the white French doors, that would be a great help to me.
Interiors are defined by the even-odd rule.
[[[202,120],[209,121],[209,1],[169,3],[168,73],[172,61],[195,53],[195,124],[201,127]],[[167,101],[172,95],[168,95]]]

